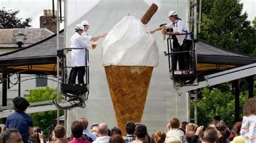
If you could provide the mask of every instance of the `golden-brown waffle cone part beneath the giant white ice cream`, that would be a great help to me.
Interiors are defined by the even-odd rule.
[[[125,132],[127,121],[140,123],[153,67],[106,66],[105,73],[118,127]]]

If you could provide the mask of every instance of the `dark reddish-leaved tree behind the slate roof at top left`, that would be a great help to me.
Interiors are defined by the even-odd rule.
[[[22,18],[17,18],[18,11],[6,10],[5,8],[0,10],[0,28],[26,28],[32,27],[29,23],[32,18],[26,18],[25,22],[22,22]]]

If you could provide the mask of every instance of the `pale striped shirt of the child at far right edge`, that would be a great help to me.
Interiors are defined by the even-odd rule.
[[[246,142],[256,142],[256,115],[242,117],[240,134]]]

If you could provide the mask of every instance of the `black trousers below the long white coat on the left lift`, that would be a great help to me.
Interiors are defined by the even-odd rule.
[[[78,73],[78,83],[84,83],[85,67],[74,67],[70,71],[69,83],[76,83],[76,77]]]

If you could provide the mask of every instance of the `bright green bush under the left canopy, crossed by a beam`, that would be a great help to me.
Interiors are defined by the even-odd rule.
[[[26,98],[28,102],[39,102],[55,100],[57,101],[57,89],[46,86],[45,88],[37,88],[29,91],[30,96]],[[60,115],[63,115],[61,110]],[[42,130],[53,124],[52,120],[57,118],[57,111],[38,112],[30,115],[33,119],[33,125],[39,126]]]

